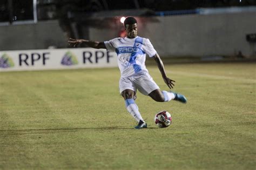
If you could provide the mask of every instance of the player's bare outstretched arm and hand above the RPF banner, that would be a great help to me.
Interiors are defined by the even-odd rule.
[[[96,42],[96,41],[92,41],[92,40],[86,40],[86,39],[73,39],[73,38],[69,38],[68,41],[70,44],[73,45],[73,47],[76,47],[77,44],[81,44],[84,43],[92,48],[95,49],[106,49],[106,46],[104,44],[104,42]]]

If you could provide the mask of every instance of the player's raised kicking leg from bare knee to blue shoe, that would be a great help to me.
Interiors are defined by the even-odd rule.
[[[160,91],[160,89],[152,91],[149,96],[159,102],[164,102],[164,101],[170,101],[170,100],[177,100],[180,101],[181,103],[187,103],[187,99],[183,94],[179,94],[176,92],[167,92],[167,91]]]

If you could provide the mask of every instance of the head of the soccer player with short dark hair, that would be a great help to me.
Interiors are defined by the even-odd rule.
[[[124,21],[124,28],[128,38],[135,38],[137,36],[137,21],[133,17],[126,17]]]

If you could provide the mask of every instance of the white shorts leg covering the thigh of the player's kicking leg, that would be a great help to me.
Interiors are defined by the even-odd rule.
[[[149,74],[142,74],[136,79],[137,89],[144,95],[148,96],[152,91],[160,89]]]

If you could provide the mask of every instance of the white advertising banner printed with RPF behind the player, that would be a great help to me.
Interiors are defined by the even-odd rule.
[[[117,54],[105,49],[0,51],[0,72],[117,66]]]

